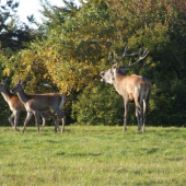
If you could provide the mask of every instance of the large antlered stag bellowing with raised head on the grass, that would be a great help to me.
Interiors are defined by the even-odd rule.
[[[106,82],[109,84],[113,84],[116,89],[116,91],[123,96],[124,98],[124,130],[127,130],[127,115],[128,115],[128,108],[129,108],[129,102],[135,101],[136,105],[136,117],[138,120],[138,130],[144,131],[144,125],[146,125],[146,114],[147,108],[149,104],[149,97],[151,94],[151,84],[148,79],[131,74],[131,75],[125,75],[125,72],[128,70],[128,68],[133,67],[138,62],[140,62],[142,59],[144,59],[149,53],[148,49],[144,50],[142,56],[139,57],[139,59],[129,66],[119,66],[119,61],[124,59],[125,56],[133,56],[136,54],[127,54],[128,46],[126,46],[124,55],[120,59],[115,57],[114,53],[114,59],[112,59],[112,55],[108,56],[109,62],[113,65],[112,69],[102,71],[100,75],[102,77],[101,81]],[[143,101],[143,111],[141,108],[141,102]],[[141,129],[141,125],[143,124],[143,127]]]

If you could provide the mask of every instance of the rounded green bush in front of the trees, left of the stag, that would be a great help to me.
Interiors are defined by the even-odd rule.
[[[80,125],[119,125],[123,124],[123,98],[113,86],[90,83],[73,103],[72,115]]]

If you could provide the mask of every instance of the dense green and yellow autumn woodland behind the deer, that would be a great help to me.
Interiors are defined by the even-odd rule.
[[[16,1],[0,5],[0,78],[9,79],[8,86],[25,80],[26,93],[66,94],[69,125],[123,125],[123,97],[100,82],[100,72],[111,68],[111,51],[120,56],[126,45],[131,53],[148,48],[148,57],[127,73],[143,75],[152,84],[147,125],[184,126],[186,1],[86,0],[81,7],[63,2],[66,7],[53,7],[42,1],[43,24],[33,15],[28,25],[16,16]],[[0,125],[10,125],[10,113],[1,96]],[[131,103],[128,125],[136,124]]]

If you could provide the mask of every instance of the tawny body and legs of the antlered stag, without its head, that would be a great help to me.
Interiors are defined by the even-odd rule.
[[[124,130],[126,130],[127,115],[129,102],[136,104],[136,116],[138,120],[138,130],[141,130],[141,124],[146,124],[147,105],[151,93],[151,84],[149,80],[140,75],[125,75],[121,72],[115,74],[114,86],[116,91],[124,98],[125,114],[124,114]],[[143,102],[143,111],[141,109],[141,102]],[[143,118],[143,119],[142,119]]]

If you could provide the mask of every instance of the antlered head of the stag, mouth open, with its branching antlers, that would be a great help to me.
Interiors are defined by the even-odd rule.
[[[144,53],[139,57],[139,59],[136,62],[133,62],[133,63],[129,62],[129,66],[119,66],[119,62],[124,59],[125,56],[135,56],[135,55],[139,54],[139,53],[128,54],[127,53],[128,49],[129,49],[129,47],[127,45],[121,58],[119,58],[119,59],[116,58],[115,53],[113,53],[113,57],[112,57],[112,54],[108,55],[108,61],[112,63],[113,67],[112,67],[112,69],[102,71],[100,73],[100,75],[102,77],[102,79],[101,79],[102,82],[114,84],[116,73],[121,72],[124,74],[128,70],[128,68],[140,62],[142,59],[146,58],[146,56],[149,53],[149,50],[146,49]]]

